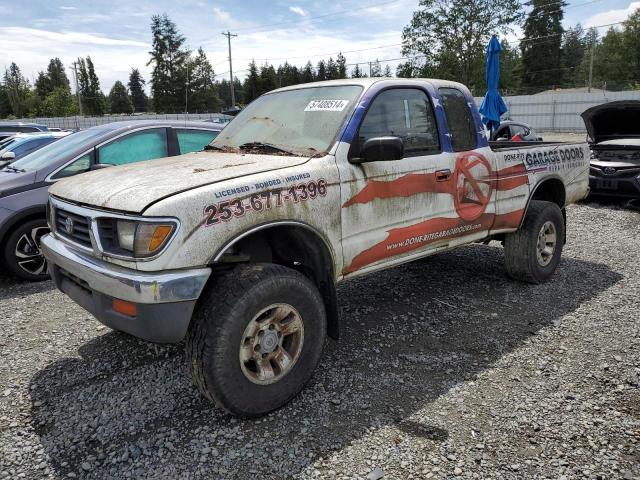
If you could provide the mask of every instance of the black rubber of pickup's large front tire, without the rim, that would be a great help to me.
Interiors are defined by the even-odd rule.
[[[258,385],[242,371],[240,345],[255,315],[277,303],[299,312],[304,342],[285,376]],[[281,265],[240,265],[202,292],[187,333],[186,357],[193,382],[206,398],[234,415],[257,417],[280,408],[302,390],[320,360],[325,336],[322,296],[308,278]]]

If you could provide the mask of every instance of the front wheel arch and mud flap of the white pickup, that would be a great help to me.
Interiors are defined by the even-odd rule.
[[[327,314],[327,334],[339,338],[335,289],[335,253],[329,241],[303,222],[277,222],[250,229],[227,242],[210,265],[224,272],[240,263],[273,263],[299,271],[320,291]]]

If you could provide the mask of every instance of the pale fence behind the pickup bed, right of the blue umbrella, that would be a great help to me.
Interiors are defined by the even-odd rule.
[[[478,106],[482,97],[476,97]],[[551,93],[504,98],[510,120],[524,122],[539,132],[585,131],[580,114],[586,109],[615,100],[640,100],[640,90],[625,92]]]

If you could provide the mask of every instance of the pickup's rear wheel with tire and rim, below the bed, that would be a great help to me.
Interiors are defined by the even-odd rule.
[[[504,258],[508,275],[535,284],[548,280],[560,263],[564,230],[558,205],[533,200],[522,227],[506,235]]]

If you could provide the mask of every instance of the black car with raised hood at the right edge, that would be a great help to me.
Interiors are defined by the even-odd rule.
[[[582,118],[591,145],[591,194],[640,198],[640,100],[597,105]]]

